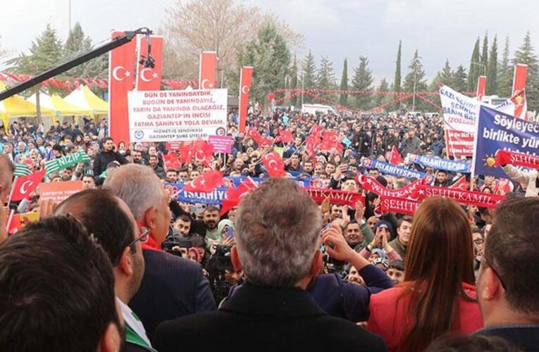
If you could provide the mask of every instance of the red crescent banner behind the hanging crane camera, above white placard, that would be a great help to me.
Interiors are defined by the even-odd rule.
[[[152,35],[150,37],[151,56],[154,58],[155,67],[145,68],[140,64],[141,59],[148,57],[148,43],[146,36],[140,38],[139,58],[137,60],[137,90],[160,90],[161,71],[163,70],[163,37]]]

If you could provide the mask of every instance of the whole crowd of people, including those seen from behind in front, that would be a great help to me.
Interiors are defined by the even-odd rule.
[[[247,122],[256,134],[228,116],[230,153],[175,168],[166,156],[179,151],[114,141],[105,121],[0,128],[0,222],[32,210],[41,218],[16,234],[0,230],[0,350],[539,351],[536,172],[523,182],[507,165],[508,187],[405,158],[401,167],[431,175],[430,184],[465,177],[467,189],[507,200],[493,209],[430,198],[413,215],[392,213],[358,175],[399,189],[414,180],[366,161],[394,149],[453,158],[438,115],[276,110]],[[339,146],[313,155],[314,130],[338,132]],[[283,131],[292,142],[280,141]],[[269,177],[261,162],[277,150],[285,177]],[[82,180],[83,191],[60,204],[39,201],[38,191],[9,201],[17,165],[42,170],[74,153],[89,158],[45,182]],[[225,211],[178,201],[166,187],[210,170],[259,184]],[[316,204],[302,180],[365,200]]]

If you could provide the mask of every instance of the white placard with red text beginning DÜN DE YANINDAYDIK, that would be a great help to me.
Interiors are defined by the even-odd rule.
[[[226,132],[227,89],[132,91],[132,142],[208,140]]]

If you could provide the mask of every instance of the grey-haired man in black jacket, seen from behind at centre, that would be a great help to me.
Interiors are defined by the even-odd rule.
[[[292,180],[271,179],[236,217],[235,270],[247,283],[216,312],[163,322],[158,351],[385,351],[382,339],[327,315],[305,291],[322,268],[321,213]],[[331,231],[331,230],[328,230]]]

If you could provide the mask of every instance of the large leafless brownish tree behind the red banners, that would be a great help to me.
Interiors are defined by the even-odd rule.
[[[263,13],[256,6],[248,6],[239,0],[176,0],[167,9],[163,30],[167,37],[166,46],[170,49],[164,51],[163,75],[169,76],[168,70],[178,70],[178,65],[188,63],[192,72],[184,73],[183,77],[197,77],[196,63],[204,50],[217,51],[218,75],[221,70],[237,75],[238,51],[268,24],[275,27],[287,45],[301,45],[303,39],[300,34],[275,15]],[[233,87],[234,83],[230,82],[230,86]]]

